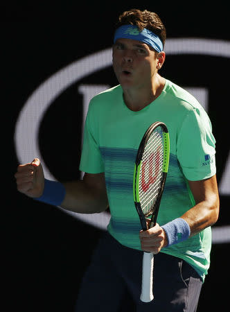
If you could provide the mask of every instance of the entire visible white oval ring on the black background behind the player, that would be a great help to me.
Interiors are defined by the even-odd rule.
[[[172,38],[167,40],[165,51],[167,55],[202,54],[230,58],[230,42],[202,38]],[[15,125],[15,148],[21,164],[31,162],[34,157],[39,157],[42,161],[46,178],[55,180],[46,167],[38,146],[39,127],[44,114],[55,98],[73,83],[77,83],[78,80],[91,75],[91,73],[109,66],[112,66],[111,48],[76,60],[76,62],[57,71],[57,73],[53,74],[53,76],[35,89],[35,92],[31,94],[24,107],[22,107]],[[100,229],[105,229],[109,222],[109,214],[107,213],[89,215],[75,214],[64,209],[63,211]],[[216,238],[218,228],[214,229],[213,242],[218,243]],[[224,233],[228,237],[226,242],[230,241],[230,231],[228,229],[230,229],[230,226],[224,228]]]

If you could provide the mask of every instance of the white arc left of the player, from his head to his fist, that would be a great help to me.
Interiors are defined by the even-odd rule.
[[[94,53],[57,71],[35,89],[22,107],[16,123],[15,147],[19,162],[31,162],[34,157],[38,157],[42,161],[47,179],[55,180],[46,167],[38,146],[39,127],[44,114],[55,98],[73,83],[111,64],[111,49]]]

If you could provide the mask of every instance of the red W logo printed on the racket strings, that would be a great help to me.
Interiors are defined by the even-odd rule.
[[[145,167],[148,164],[148,182],[145,182]],[[152,153],[148,160],[142,163],[141,167],[141,189],[143,192],[147,192],[151,184],[157,180],[160,167],[160,146],[157,147],[157,151]]]

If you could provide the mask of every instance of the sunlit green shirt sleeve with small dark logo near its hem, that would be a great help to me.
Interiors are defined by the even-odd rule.
[[[191,181],[215,175],[215,138],[209,116],[201,107],[188,112],[177,138],[177,159]]]

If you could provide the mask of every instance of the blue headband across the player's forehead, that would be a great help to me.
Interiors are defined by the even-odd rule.
[[[118,38],[139,40],[152,46],[152,48],[157,52],[163,51],[163,43],[161,42],[160,38],[146,28],[140,32],[139,29],[133,25],[120,26],[115,31],[114,43]]]

